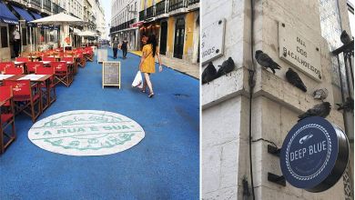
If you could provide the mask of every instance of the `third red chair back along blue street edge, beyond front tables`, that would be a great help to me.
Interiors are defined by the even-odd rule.
[[[67,87],[73,82],[73,75],[70,73],[66,62],[52,62],[51,66],[55,68],[56,85],[62,83]]]

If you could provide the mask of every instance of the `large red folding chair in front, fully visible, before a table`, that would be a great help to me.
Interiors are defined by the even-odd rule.
[[[31,116],[32,122],[42,112],[41,93],[38,84],[31,85],[30,80],[4,80],[5,86],[12,86],[15,102],[15,114],[24,112]]]

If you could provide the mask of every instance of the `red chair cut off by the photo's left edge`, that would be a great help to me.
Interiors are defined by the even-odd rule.
[[[14,97],[11,86],[0,86],[0,154],[15,141]]]

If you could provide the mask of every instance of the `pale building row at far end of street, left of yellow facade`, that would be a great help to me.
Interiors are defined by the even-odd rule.
[[[121,43],[127,38],[128,49],[137,50],[139,35],[137,27],[139,0],[115,0],[111,2],[111,41],[117,37]]]

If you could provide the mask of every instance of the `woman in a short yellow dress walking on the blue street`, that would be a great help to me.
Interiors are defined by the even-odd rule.
[[[160,60],[160,56],[159,56],[159,51],[157,48],[157,38],[156,35],[142,35],[142,43],[144,44],[143,46],[143,54],[142,54],[142,58],[140,60],[140,64],[139,64],[139,70],[144,74],[144,84],[143,84],[143,88],[142,88],[142,92],[145,93],[146,92],[146,88],[148,86],[149,88],[149,95],[148,97],[151,98],[154,95],[154,91],[153,91],[153,85],[152,82],[150,80],[150,74],[151,73],[155,73],[156,72],[156,59],[155,59],[155,55],[157,55],[157,60],[159,62],[159,72],[161,72],[163,70],[162,66],[161,66],[161,60]]]

